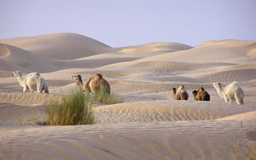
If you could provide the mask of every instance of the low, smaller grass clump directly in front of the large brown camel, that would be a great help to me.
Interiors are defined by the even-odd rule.
[[[102,102],[107,105],[116,104],[116,103],[123,103],[124,99],[120,96],[117,96],[114,93],[106,92],[106,88],[102,87],[101,92],[98,92],[94,95],[93,101]]]

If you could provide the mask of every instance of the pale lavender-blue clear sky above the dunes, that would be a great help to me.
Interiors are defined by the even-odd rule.
[[[256,40],[256,0],[0,0],[0,40],[72,32],[112,47]]]

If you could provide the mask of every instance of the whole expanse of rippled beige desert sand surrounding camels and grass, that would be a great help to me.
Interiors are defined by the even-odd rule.
[[[11,72],[39,72],[50,94],[22,92]],[[96,125],[21,125],[45,118],[45,105],[101,73],[125,102],[98,103]],[[212,82],[237,81],[244,105],[225,103]],[[175,101],[184,85],[188,101]],[[204,87],[211,101],[194,101]],[[234,159],[256,129],[256,41],[191,47],[149,43],[111,48],[73,33],[0,40],[0,159]],[[242,126],[241,126],[242,125]]]

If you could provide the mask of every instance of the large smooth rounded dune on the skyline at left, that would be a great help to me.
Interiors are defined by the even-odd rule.
[[[78,59],[106,52],[109,46],[87,36],[73,33],[55,33],[33,37],[0,40],[0,43],[26,49],[51,59]]]

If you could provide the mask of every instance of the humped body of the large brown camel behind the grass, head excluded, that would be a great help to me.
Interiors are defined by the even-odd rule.
[[[110,93],[111,87],[106,79],[102,78],[102,74],[97,73],[92,78],[88,79],[88,82],[85,83],[85,91],[92,93]]]

